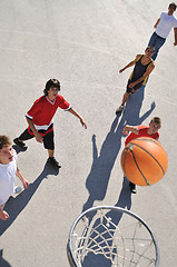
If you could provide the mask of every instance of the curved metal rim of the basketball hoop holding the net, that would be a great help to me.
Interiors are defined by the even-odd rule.
[[[158,243],[157,243],[157,239],[154,235],[154,233],[151,231],[150,227],[146,224],[145,220],[142,220],[139,216],[137,216],[136,214],[134,214],[132,211],[128,210],[128,209],[124,209],[124,208],[120,208],[120,207],[116,207],[116,206],[96,206],[96,207],[91,207],[87,210],[85,210],[82,214],[80,214],[73,221],[71,228],[70,228],[70,231],[69,231],[69,237],[68,237],[68,244],[67,244],[67,251],[68,251],[68,258],[69,258],[69,261],[71,264],[72,261],[72,265],[75,265],[75,267],[78,267],[76,260],[75,260],[75,257],[73,257],[73,249],[72,249],[72,246],[71,246],[71,241],[72,241],[72,233],[77,226],[77,224],[79,222],[79,220],[86,216],[87,214],[91,212],[91,211],[96,211],[96,210],[100,210],[100,209],[111,209],[111,210],[116,210],[116,211],[120,211],[122,214],[128,214],[130,215],[131,217],[136,218],[137,220],[139,220],[146,228],[147,230],[149,231],[151,238],[153,238],[153,241],[154,241],[154,245],[155,245],[155,250],[156,250],[156,267],[159,266],[159,258],[160,258],[160,253],[159,253],[159,247],[158,247]]]

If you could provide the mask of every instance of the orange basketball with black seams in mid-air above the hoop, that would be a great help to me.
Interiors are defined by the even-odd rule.
[[[131,140],[121,154],[121,169],[135,185],[151,186],[167,171],[168,158],[157,140],[140,137]]]

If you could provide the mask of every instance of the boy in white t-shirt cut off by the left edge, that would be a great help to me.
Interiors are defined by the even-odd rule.
[[[17,152],[12,148],[11,140],[7,136],[0,136],[0,219],[7,220],[9,215],[3,210],[9,197],[14,194],[14,180],[18,176],[28,188],[29,182],[17,168]]]

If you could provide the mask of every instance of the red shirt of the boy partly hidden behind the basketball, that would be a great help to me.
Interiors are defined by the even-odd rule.
[[[134,139],[136,139],[136,138],[138,138],[138,137],[150,137],[150,138],[154,138],[154,139],[158,139],[158,138],[159,138],[158,131],[157,131],[156,134],[148,135],[148,132],[147,132],[148,128],[149,128],[148,126],[142,126],[142,125],[138,126],[139,134],[138,134],[138,135],[135,135],[134,132],[131,132],[131,134],[127,137],[127,139],[126,139],[126,141],[125,141],[125,146],[126,146],[128,142],[130,142],[131,140],[134,140]]]

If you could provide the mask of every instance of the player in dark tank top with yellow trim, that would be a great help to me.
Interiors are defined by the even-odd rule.
[[[135,60],[130,61],[125,68],[119,70],[119,73],[121,73],[127,68],[135,66],[128,79],[127,90],[122,97],[121,105],[116,110],[116,115],[121,113],[129,95],[136,92],[141,86],[146,85],[150,72],[155,68],[154,61],[151,59],[154,51],[154,47],[147,47],[145,50],[145,55],[137,55]]]

